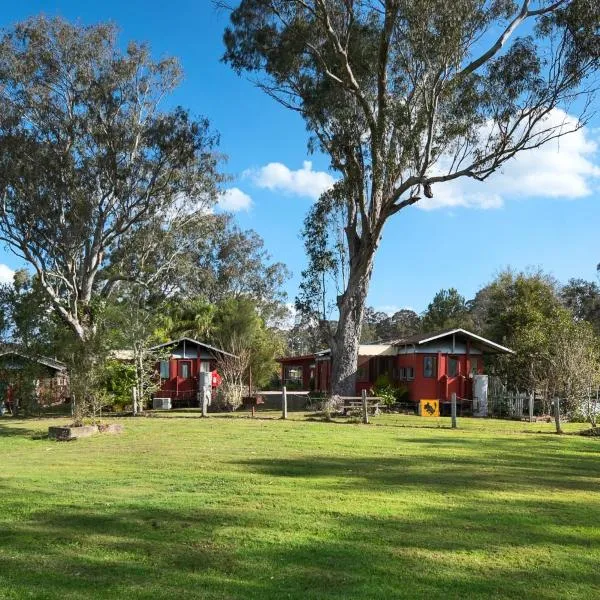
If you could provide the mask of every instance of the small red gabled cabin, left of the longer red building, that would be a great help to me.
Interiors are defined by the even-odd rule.
[[[171,406],[197,406],[201,372],[215,372],[220,356],[233,356],[208,344],[183,337],[151,348],[164,356],[157,361],[160,374],[160,390],[155,398],[169,398]],[[213,378],[213,388],[218,377]]]

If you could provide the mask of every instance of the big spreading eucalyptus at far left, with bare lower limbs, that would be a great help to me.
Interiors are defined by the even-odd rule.
[[[121,50],[112,24],[36,17],[0,38],[0,240],[84,344],[130,277],[101,276],[128,239],[216,198],[208,121],[162,108],[180,77],[144,44]]]

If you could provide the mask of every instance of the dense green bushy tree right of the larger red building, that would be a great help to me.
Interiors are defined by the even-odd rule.
[[[567,288],[571,308],[577,307],[578,287]],[[598,337],[577,311],[565,308],[564,298],[556,281],[542,272],[504,271],[483,288],[473,312],[484,335],[516,352],[488,359],[487,369],[501,374],[513,388],[542,390],[569,402],[596,385]]]

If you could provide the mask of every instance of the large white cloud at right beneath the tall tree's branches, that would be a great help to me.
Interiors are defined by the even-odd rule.
[[[571,129],[574,117],[555,110],[544,124]],[[424,210],[457,207],[500,208],[506,198],[565,198],[589,196],[600,178],[594,130],[579,129],[534,150],[526,150],[505,163],[502,172],[487,181],[461,178],[436,184],[433,198],[417,206]],[[600,138],[600,136],[598,136]]]

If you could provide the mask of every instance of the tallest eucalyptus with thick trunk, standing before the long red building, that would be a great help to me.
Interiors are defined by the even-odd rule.
[[[341,216],[347,251],[335,392],[354,390],[385,223],[436,184],[483,181],[580,128],[597,83],[599,21],[596,0],[242,0],[231,12],[224,60],[298,112],[311,148],[339,174],[314,209]],[[317,297],[330,257],[309,257]]]

